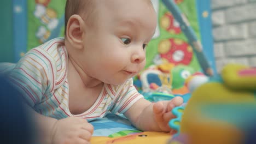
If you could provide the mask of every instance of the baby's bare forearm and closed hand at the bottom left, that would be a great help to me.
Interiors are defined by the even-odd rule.
[[[35,117],[36,124],[38,125],[38,143],[89,143],[94,127],[86,119],[67,117],[57,120],[40,115],[29,106],[27,106],[27,109]]]

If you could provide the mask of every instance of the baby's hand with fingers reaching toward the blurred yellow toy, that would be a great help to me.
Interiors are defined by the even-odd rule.
[[[181,97],[175,97],[169,101],[158,101],[153,105],[154,118],[160,131],[170,131],[174,134],[175,131],[168,126],[168,122],[175,116],[172,114],[172,109],[176,106],[180,106],[183,103]]]

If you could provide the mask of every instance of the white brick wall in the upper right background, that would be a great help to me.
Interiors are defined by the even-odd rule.
[[[216,67],[256,67],[256,0],[211,0]]]

